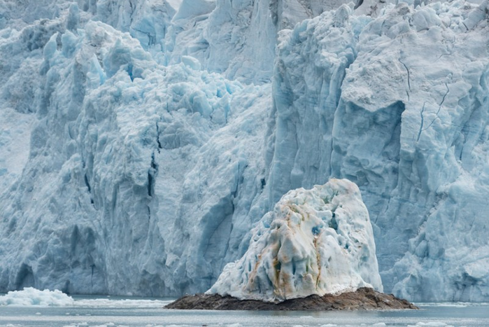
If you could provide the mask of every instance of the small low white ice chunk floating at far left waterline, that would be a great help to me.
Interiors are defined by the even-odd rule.
[[[73,306],[75,301],[71,296],[62,291],[40,291],[33,287],[26,287],[22,291],[10,291],[6,295],[0,296],[0,305],[41,305],[67,307]]]

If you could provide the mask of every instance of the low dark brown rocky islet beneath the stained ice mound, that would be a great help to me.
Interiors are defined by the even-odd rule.
[[[185,295],[166,305],[166,309],[203,310],[383,310],[418,309],[412,303],[396,298],[392,294],[375,291],[373,288],[359,288],[355,292],[323,296],[310,295],[307,298],[294,298],[279,303],[259,300],[239,300],[232,296],[218,294]]]

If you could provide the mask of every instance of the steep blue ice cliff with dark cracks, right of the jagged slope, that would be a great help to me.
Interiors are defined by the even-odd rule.
[[[278,45],[270,203],[357,183],[383,284],[406,298],[488,297],[487,30],[487,2],[343,6]]]

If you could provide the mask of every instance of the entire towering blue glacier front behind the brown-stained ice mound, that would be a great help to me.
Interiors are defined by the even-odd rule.
[[[337,178],[385,291],[487,301],[488,1],[347,2],[0,1],[0,292],[205,291]]]

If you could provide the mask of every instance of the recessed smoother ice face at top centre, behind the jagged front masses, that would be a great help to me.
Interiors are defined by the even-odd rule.
[[[278,30],[347,0],[183,0],[166,36],[166,60],[196,57],[204,69],[250,83],[269,81]]]

